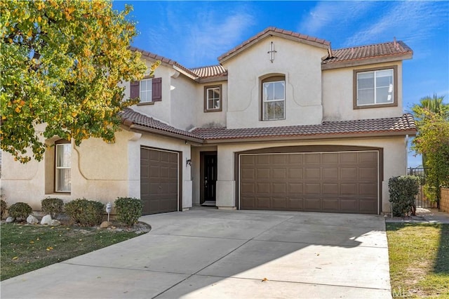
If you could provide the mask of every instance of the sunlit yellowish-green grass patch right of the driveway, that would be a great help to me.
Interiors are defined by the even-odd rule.
[[[449,298],[449,224],[387,223],[391,295]]]

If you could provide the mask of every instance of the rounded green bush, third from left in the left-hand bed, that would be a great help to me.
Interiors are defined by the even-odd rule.
[[[103,218],[105,205],[100,201],[75,199],[64,205],[65,213],[79,225],[99,225]]]

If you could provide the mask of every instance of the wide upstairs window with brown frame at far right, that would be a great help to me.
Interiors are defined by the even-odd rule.
[[[355,70],[354,108],[397,106],[396,66]]]

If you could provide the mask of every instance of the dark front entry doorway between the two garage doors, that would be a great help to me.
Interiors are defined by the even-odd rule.
[[[217,152],[201,152],[201,206],[215,206],[217,195]]]

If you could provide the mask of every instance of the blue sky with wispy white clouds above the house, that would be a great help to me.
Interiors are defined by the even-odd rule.
[[[185,67],[217,57],[274,26],[331,42],[334,49],[396,39],[413,49],[403,62],[403,108],[420,98],[449,100],[449,1],[114,1],[132,4],[133,46]],[[421,164],[409,154],[409,166]]]

